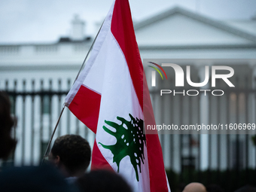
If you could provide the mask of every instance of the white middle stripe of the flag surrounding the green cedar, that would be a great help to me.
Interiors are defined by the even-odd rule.
[[[114,145],[117,142],[114,136],[111,136],[102,129],[104,125],[106,126],[105,120],[111,120],[120,124],[120,120],[117,120],[117,114],[126,120],[130,120],[129,114],[133,114],[133,117],[138,117],[143,120],[143,113],[133,87],[133,82],[130,78],[126,59],[110,30],[105,41],[108,43],[108,47],[102,46],[99,53],[99,55],[101,55],[101,52],[108,53],[108,57],[105,59],[105,75],[102,86],[102,99],[99,111],[96,143],[99,150],[102,151],[103,157],[105,157],[108,163],[115,171],[117,171],[117,164],[113,163],[113,154],[111,154],[111,151],[103,148],[102,145],[99,145],[99,142],[104,145]],[[115,130],[113,129],[112,131]],[[147,149],[144,149],[145,157],[147,157]],[[133,165],[130,163],[130,157],[127,156],[121,160],[119,172],[126,178],[126,181],[130,182],[135,191],[150,191],[148,185],[147,158],[145,158],[144,164],[142,163],[143,175],[139,173],[139,182],[136,180],[136,174]]]

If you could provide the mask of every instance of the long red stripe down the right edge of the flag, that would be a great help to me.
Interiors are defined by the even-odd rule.
[[[143,110],[143,66],[133,29],[128,1],[117,0],[114,5],[111,32],[126,58],[133,87]],[[148,92],[148,90],[147,90]],[[148,94],[149,93],[145,93]],[[152,113],[153,109],[151,108]],[[154,117],[154,116],[153,116]],[[146,135],[148,148],[148,169],[151,192],[168,191],[163,165],[163,154],[157,135]]]

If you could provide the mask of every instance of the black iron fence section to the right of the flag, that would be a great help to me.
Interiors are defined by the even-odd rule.
[[[220,125],[228,131],[228,134],[224,131],[207,135],[160,135],[172,191],[181,190],[184,184],[193,181],[219,184],[225,191],[256,184],[256,132],[233,132],[242,125],[255,130],[256,80],[253,81],[248,77],[236,78],[236,88],[221,87],[223,96],[211,92],[188,96],[189,87],[169,86],[172,93],[162,96],[160,90],[151,90],[157,124]],[[178,93],[175,96],[173,89]],[[193,90],[198,89],[193,87]]]

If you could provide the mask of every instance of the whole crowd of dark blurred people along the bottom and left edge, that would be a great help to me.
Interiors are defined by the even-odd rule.
[[[11,103],[0,91],[0,160],[8,158],[17,141],[11,138],[14,118]],[[0,171],[0,191],[65,191],[65,192],[132,192],[132,188],[117,173],[109,170],[87,172],[91,160],[91,148],[86,139],[77,135],[57,138],[42,166],[12,167]],[[205,187],[201,183],[187,184],[183,192],[224,192],[215,184]],[[235,192],[256,192],[252,186]]]

